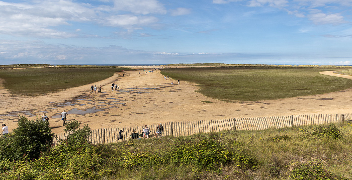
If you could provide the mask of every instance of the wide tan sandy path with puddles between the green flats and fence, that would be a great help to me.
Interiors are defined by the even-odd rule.
[[[352,76],[337,75],[332,71],[321,74],[352,79]],[[111,91],[113,82],[118,84],[119,90]],[[352,109],[352,88],[313,96],[229,103],[195,92],[197,86],[193,83],[181,81],[178,85],[177,80],[165,80],[159,71],[129,71],[126,76],[116,74],[93,83],[98,87],[102,85],[102,93],[90,93],[91,85],[39,97],[14,96],[0,86],[0,103],[5,105],[0,109],[0,123],[6,123],[11,130],[17,126],[18,115],[35,119],[46,112],[52,131],[61,133],[60,113],[63,109],[69,114],[68,120],[76,119],[92,129],[169,121],[350,113]]]

